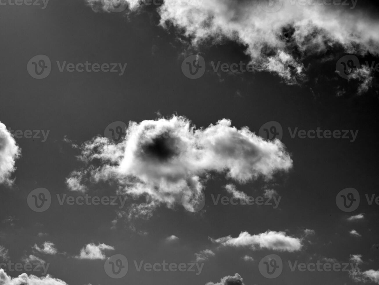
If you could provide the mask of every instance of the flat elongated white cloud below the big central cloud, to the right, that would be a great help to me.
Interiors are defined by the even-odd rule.
[[[236,238],[225,236],[211,239],[220,246],[247,247],[252,250],[271,249],[278,251],[294,252],[302,247],[301,239],[287,236],[284,231],[266,231],[258,235],[250,235],[247,231],[241,232]]]

